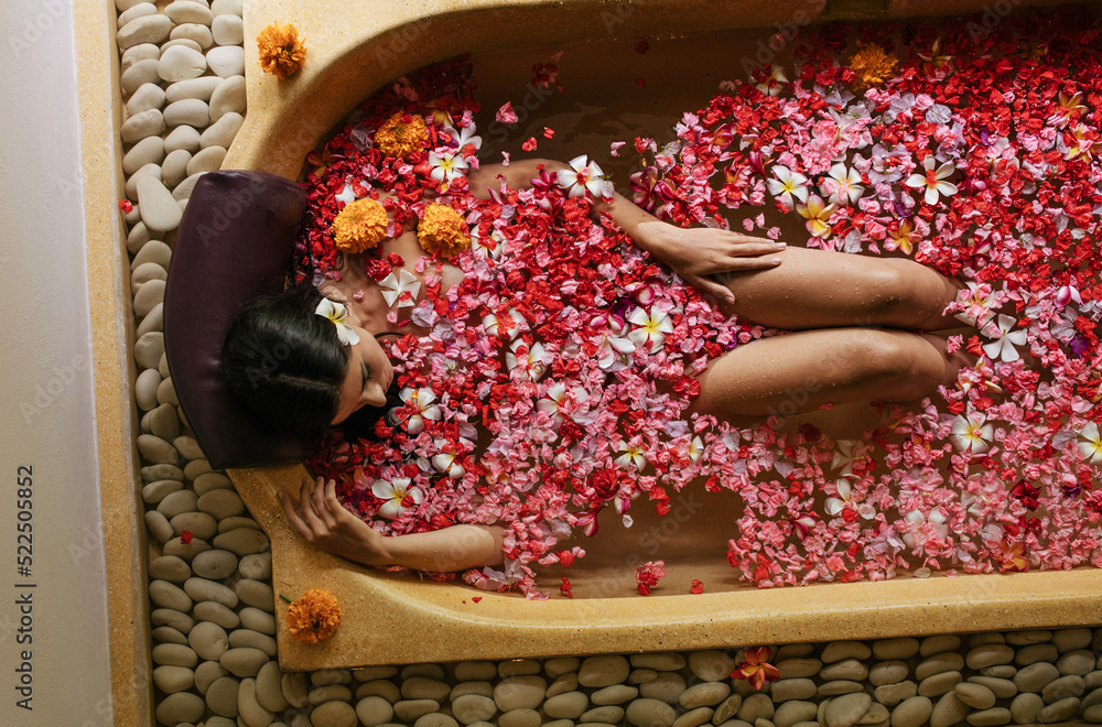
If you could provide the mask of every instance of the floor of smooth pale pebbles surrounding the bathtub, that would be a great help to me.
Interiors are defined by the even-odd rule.
[[[779,681],[731,679],[743,650],[282,673],[271,555],[177,409],[161,301],[195,181],[246,110],[242,0],[115,0],[142,412],[155,716],[205,727],[976,727],[1102,723],[1102,629],[788,644]],[[162,3],[163,4],[163,3]],[[183,531],[193,534],[181,541]]]

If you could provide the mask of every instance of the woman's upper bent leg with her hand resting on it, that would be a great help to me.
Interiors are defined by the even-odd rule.
[[[942,315],[960,285],[912,260],[788,248],[776,268],[724,273],[732,311],[774,328],[886,326],[939,330],[961,324]]]

